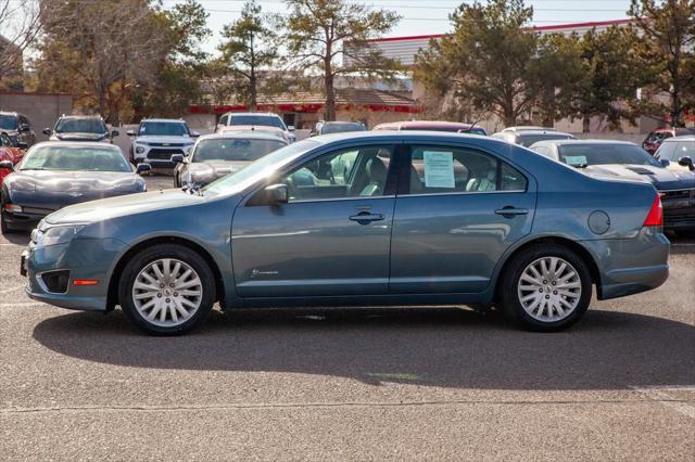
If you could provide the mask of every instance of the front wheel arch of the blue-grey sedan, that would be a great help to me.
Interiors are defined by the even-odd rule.
[[[128,251],[121,256],[121,258],[118,259],[118,262],[116,262],[116,266],[111,272],[111,278],[109,280],[109,291],[108,291],[108,297],[106,297],[108,311],[113,310],[115,306],[118,305],[118,284],[121,283],[121,274],[123,273],[123,269],[128,264],[128,261],[130,261],[130,259],[135,257],[135,255],[137,255],[143,248],[147,248],[151,245],[159,245],[159,244],[178,244],[184,247],[188,247],[189,249],[200,255],[205,260],[205,262],[210,266],[210,269],[213,271],[213,274],[215,275],[215,300],[224,301],[223,299],[225,296],[225,284],[222,278],[222,272],[219,271],[219,267],[215,262],[215,259],[212,257],[212,255],[210,255],[207,251],[205,251],[205,248],[184,238],[156,236],[156,238],[150,238],[144,241],[138,242],[132,247],[128,248]]]

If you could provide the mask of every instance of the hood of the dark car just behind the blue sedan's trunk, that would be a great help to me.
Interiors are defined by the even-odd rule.
[[[648,165],[592,165],[583,169],[593,176],[612,176],[629,180],[648,181],[657,190],[695,188],[695,174]]]

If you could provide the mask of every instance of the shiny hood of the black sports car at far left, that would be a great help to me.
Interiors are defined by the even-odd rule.
[[[119,171],[17,171],[4,179],[13,203],[48,210],[144,191],[144,180]]]

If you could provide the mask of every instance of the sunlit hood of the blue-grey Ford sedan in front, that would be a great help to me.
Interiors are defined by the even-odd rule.
[[[199,204],[206,198],[180,189],[163,190],[72,205],[49,215],[46,221],[51,224],[90,223],[125,215]]]

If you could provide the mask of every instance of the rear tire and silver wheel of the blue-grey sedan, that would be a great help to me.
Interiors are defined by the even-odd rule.
[[[502,274],[502,309],[507,318],[530,331],[557,332],[584,316],[592,279],[579,255],[561,245],[542,244],[513,258]]]

